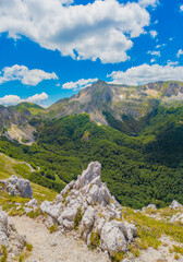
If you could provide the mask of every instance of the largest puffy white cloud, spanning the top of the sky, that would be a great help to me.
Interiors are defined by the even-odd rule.
[[[136,2],[72,2],[1,0],[0,33],[9,32],[14,39],[25,35],[41,47],[58,49],[73,59],[99,58],[103,63],[115,63],[129,59],[132,39],[144,34],[144,27],[149,25],[149,13]],[[155,5],[156,0],[150,2]]]

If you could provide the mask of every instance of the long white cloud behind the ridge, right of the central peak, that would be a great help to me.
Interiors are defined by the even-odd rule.
[[[183,67],[159,66],[159,64],[142,64],[123,71],[113,71],[108,78],[112,79],[112,83],[126,85],[138,85],[157,81],[183,81]]]

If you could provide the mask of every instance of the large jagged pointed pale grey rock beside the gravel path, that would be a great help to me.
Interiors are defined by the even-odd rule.
[[[122,207],[101,182],[101,165],[91,162],[87,169],[60,192],[54,202],[45,201],[40,211],[54,219],[59,228],[77,233],[88,246],[114,253],[126,251],[127,241],[136,237],[136,227],[122,219]]]

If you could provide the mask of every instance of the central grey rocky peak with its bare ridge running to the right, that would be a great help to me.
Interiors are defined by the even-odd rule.
[[[183,100],[183,83],[156,82],[139,86],[108,84],[97,81],[71,98],[60,99],[48,108],[52,118],[87,112],[96,122],[110,126],[110,118],[139,120],[159,104],[179,105]]]

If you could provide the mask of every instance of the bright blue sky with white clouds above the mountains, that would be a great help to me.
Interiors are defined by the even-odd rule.
[[[0,0],[0,105],[183,82],[182,0]]]

